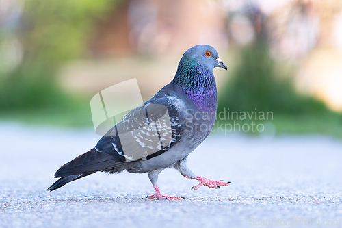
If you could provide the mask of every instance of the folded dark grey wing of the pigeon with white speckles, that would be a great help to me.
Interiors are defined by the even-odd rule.
[[[103,136],[96,151],[110,154],[116,162],[147,160],[161,155],[181,139],[185,118],[175,97],[163,97],[131,110]]]

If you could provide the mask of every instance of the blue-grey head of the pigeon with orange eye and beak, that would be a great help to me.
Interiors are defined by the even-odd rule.
[[[218,57],[218,51],[210,45],[196,45],[188,49],[179,64],[200,65],[211,72],[215,67],[227,69],[226,64]]]

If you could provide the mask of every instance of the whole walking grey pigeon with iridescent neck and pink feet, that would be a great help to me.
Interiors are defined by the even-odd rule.
[[[213,68],[227,69],[218,52],[209,45],[196,45],[183,54],[174,79],[149,101],[129,111],[90,151],[64,164],[58,179],[47,190],[98,171],[148,173],[155,194],[148,199],[183,199],[162,195],[158,175],[175,168],[188,179],[200,181],[192,187],[220,188],[231,182],[213,181],[192,173],[187,157],[207,138],[216,118],[218,93]]]

